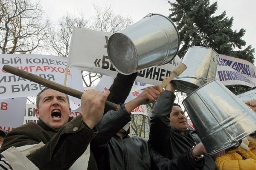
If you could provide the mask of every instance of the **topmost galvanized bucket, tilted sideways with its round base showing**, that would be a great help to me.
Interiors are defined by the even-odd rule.
[[[108,40],[108,57],[122,74],[159,66],[177,55],[180,35],[174,23],[161,14],[142,20],[114,33]]]

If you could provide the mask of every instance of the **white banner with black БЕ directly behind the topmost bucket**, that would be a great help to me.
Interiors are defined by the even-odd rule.
[[[86,28],[73,28],[68,65],[83,71],[116,77],[117,71],[113,68],[107,52],[108,39],[112,34]],[[165,65],[140,71],[136,81],[151,85],[161,84],[165,77],[172,74],[180,61],[181,59],[176,56]]]

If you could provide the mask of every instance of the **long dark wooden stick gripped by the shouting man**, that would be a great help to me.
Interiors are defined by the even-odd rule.
[[[32,82],[36,82],[38,84],[44,85],[48,88],[52,88],[53,90],[60,91],[64,94],[68,94],[70,96],[76,97],[78,99],[81,99],[82,94],[84,94],[83,92],[78,91],[76,89],[69,88],[67,86],[61,85],[61,84],[56,83],[56,82],[52,82],[48,79],[44,79],[43,77],[39,77],[35,74],[28,73],[26,71],[20,70],[20,69],[15,68],[15,67],[12,67],[10,65],[4,65],[3,70],[7,71],[9,73],[15,74],[16,76],[22,77],[24,79],[28,79]],[[119,110],[119,105],[117,105],[113,102],[109,102],[109,101],[105,102],[105,107],[108,108],[108,109],[111,109],[113,111],[118,111]]]

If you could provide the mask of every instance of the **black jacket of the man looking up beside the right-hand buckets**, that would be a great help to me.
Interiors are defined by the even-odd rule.
[[[185,135],[171,130],[169,117],[174,100],[175,94],[165,90],[154,105],[149,122],[149,141],[152,147],[168,159],[175,159],[180,154],[188,153],[192,146],[201,142],[195,130],[188,129],[185,131]],[[197,165],[199,161],[194,161],[189,154],[187,156],[187,159],[190,160],[190,164],[187,166],[192,166],[192,169],[201,169]],[[201,161],[205,162],[204,170],[217,170],[211,156],[204,156]],[[183,165],[180,164],[180,166]]]

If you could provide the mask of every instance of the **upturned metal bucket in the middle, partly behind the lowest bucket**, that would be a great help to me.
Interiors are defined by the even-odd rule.
[[[211,48],[194,46],[188,49],[182,62],[187,69],[172,81],[187,94],[216,78],[219,55]]]

